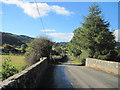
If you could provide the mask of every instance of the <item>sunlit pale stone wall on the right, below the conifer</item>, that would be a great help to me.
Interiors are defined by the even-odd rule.
[[[118,62],[87,58],[86,66],[120,74],[120,63]]]

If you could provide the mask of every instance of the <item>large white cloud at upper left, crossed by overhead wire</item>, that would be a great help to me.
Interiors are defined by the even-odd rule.
[[[13,4],[24,10],[24,13],[32,16],[33,18],[40,17],[37,12],[36,3],[30,3],[27,1],[19,1],[19,0],[1,0],[5,4]],[[47,16],[49,12],[55,12],[61,15],[71,15],[73,12],[67,11],[64,7],[60,7],[57,5],[48,5],[47,3],[37,3],[38,9],[40,11],[40,15]]]

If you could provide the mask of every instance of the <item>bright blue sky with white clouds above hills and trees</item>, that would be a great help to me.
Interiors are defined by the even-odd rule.
[[[0,30],[2,32],[30,37],[42,35],[56,42],[68,42],[71,40],[73,31],[81,27],[80,22],[84,22],[83,16],[89,14],[89,6],[93,3],[38,2],[36,4],[34,0],[31,0],[31,2],[25,0],[1,0],[1,2],[2,27]],[[104,19],[110,22],[110,31],[117,30],[117,0],[116,2],[103,1],[97,3],[102,9]]]

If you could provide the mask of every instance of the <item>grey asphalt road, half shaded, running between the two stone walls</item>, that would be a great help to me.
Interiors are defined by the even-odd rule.
[[[70,59],[48,68],[43,88],[118,88],[118,76],[84,66],[77,66]]]

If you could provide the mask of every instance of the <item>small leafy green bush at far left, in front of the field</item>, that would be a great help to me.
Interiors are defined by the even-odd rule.
[[[6,58],[2,63],[2,80],[18,73],[18,70],[11,64],[11,59]]]

